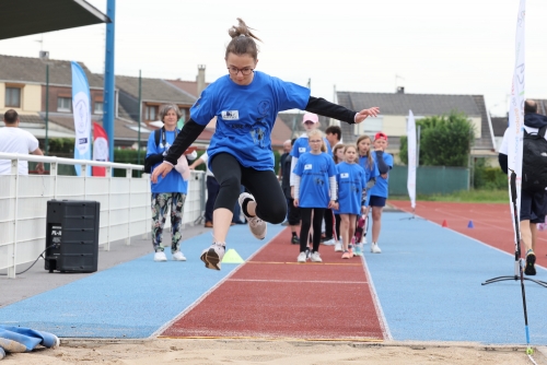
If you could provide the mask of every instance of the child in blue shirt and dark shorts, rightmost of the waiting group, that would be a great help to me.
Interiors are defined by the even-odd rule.
[[[393,168],[393,156],[385,152],[387,148],[387,136],[383,132],[377,132],[374,137],[374,153],[372,157],[376,163],[380,176],[376,178],[376,184],[369,190],[369,205],[372,208],[372,245],[371,252],[381,254],[382,250],[377,245],[380,231],[382,228],[382,211],[387,200],[387,187],[389,184],[389,169]]]

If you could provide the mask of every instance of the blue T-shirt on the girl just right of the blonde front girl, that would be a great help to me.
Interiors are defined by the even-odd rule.
[[[336,165],[339,210],[336,214],[361,214],[363,190],[366,187],[364,169],[358,164],[341,162]]]

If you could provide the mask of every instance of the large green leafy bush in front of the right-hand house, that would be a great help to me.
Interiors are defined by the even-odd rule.
[[[419,119],[416,125],[421,126],[420,165],[467,166],[475,131],[464,113],[452,110],[447,116]],[[405,164],[407,149],[407,139],[401,137],[399,156]]]

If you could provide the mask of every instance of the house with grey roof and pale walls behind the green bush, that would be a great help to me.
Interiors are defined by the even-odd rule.
[[[406,136],[409,110],[412,110],[416,120],[457,110],[465,113],[475,128],[472,156],[497,155],[492,123],[482,95],[407,94],[404,87],[398,87],[395,93],[337,92],[337,98],[338,104],[353,110],[380,107],[381,114],[375,118],[368,118],[359,125],[340,123],[346,142],[353,142],[361,134],[373,138],[376,132],[383,131],[389,139],[388,152],[397,156],[400,137]]]

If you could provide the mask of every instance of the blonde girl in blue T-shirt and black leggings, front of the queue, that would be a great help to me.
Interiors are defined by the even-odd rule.
[[[300,155],[294,167],[294,205],[300,208],[300,255],[298,262],[306,261],[307,235],[312,226],[313,249],[311,260],[322,262],[319,256],[321,224],[325,209],[333,208],[336,201],[336,165],[326,153],[323,133],[318,129],[309,134],[311,151]]]

